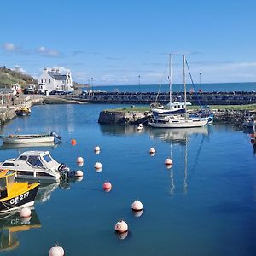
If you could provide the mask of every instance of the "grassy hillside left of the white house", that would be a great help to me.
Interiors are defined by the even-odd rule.
[[[20,84],[25,87],[27,84],[37,84],[37,80],[27,74],[7,67],[0,67],[0,87],[9,87],[12,84]]]

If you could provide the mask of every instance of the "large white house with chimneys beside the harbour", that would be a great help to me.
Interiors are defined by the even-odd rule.
[[[73,91],[73,81],[71,72],[67,71],[65,75],[60,73],[59,69],[44,68],[43,73],[38,78],[38,90],[47,93],[50,91]]]

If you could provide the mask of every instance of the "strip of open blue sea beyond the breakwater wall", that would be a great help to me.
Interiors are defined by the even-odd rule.
[[[83,90],[103,90],[108,92],[167,92],[169,91],[169,84],[140,84],[140,85],[94,85],[84,87]],[[187,91],[190,90],[203,92],[212,91],[254,91],[256,92],[256,82],[242,82],[242,83],[212,83],[212,84],[187,84]],[[182,92],[183,84],[172,84],[173,92]]]

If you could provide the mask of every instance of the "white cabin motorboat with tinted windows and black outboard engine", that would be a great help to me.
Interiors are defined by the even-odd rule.
[[[49,151],[26,151],[17,158],[0,163],[0,169],[16,171],[16,177],[37,180],[60,180],[69,176],[69,168],[54,160]]]

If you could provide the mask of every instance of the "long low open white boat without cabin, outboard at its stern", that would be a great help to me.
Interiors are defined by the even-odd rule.
[[[3,143],[54,143],[55,138],[61,139],[61,136],[55,132],[43,134],[9,134],[0,135]]]

